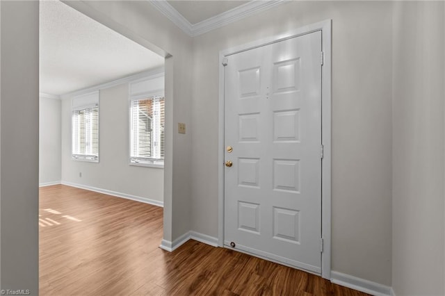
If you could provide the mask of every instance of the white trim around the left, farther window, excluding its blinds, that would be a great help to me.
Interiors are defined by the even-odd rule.
[[[75,101],[76,99],[84,99],[84,98],[88,98],[86,99],[83,104],[81,105],[76,105]],[[86,108],[91,108],[93,106],[97,106],[98,107],[98,116],[99,116],[99,121],[97,122],[97,129],[99,130],[99,139],[97,142],[97,156],[92,156],[92,155],[83,155],[83,154],[73,154],[72,153],[72,113],[75,110],[83,110]],[[99,94],[99,90],[95,90],[94,92],[88,92],[86,94],[81,94],[78,95],[76,97],[72,97],[71,99],[71,122],[70,122],[70,129],[71,129],[71,160],[72,161],[81,161],[81,162],[85,162],[85,163],[100,163],[100,94]]]

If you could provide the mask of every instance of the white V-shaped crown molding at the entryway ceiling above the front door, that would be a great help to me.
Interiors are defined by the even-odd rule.
[[[231,10],[227,10],[225,13],[221,13],[220,15],[205,19],[204,21],[197,24],[191,24],[190,22],[188,22],[185,17],[178,13],[177,10],[165,0],[149,0],[149,3],[151,3],[163,15],[165,15],[165,17],[170,19],[173,24],[181,28],[184,33],[191,37],[195,37],[197,35],[215,30],[216,28],[226,26],[227,24],[231,24],[232,22],[236,22],[255,13],[273,8],[274,6],[277,6],[284,1],[285,0],[250,1]]]

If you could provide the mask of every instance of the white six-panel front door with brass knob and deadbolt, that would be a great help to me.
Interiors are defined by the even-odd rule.
[[[225,245],[320,273],[321,31],[227,57],[225,146]]]

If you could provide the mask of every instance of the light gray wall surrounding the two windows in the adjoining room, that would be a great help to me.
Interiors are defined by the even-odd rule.
[[[71,98],[63,99],[62,181],[162,203],[163,169],[129,165],[128,88],[124,83],[99,92],[99,163],[72,160]]]

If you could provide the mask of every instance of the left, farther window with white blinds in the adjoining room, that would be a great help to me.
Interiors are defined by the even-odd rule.
[[[72,158],[99,161],[99,92],[72,100]]]

